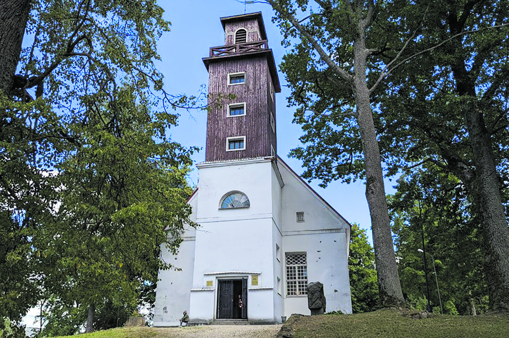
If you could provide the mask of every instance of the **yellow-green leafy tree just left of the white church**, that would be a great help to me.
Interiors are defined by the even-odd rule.
[[[189,152],[156,142],[168,121],[134,98],[124,89],[107,107],[94,102],[87,125],[74,126],[80,147],[58,166],[58,213],[33,240],[45,290],[88,306],[88,328],[104,299],[137,305],[142,285],[156,284],[158,271],[171,267],[159,259],[160,244],[176,252],[184,223],[194,224],[186,203]]]

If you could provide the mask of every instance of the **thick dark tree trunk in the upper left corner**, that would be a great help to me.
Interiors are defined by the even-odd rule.
[[[30,0],[0,1],[0,92],[9,93],[29,18]]]

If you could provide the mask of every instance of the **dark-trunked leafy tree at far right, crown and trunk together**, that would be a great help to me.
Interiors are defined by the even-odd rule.
[[[417,45],[427,50],[444,43],[421,54],[411,72],[393,74],[392,90],[377,98],[382,143],[390,144],[395,163],[434,163],[464,184],[484,232],[492,311],[509,310],[509,231],[501,196],[507,188],[508,14],[500,1],[430,7]]]

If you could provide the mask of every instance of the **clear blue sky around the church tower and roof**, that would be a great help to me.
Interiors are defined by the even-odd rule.
[[[163,35],[159,41],[159,53],[162,63],[158,68],[165,76],[165,89],[173,94],[193,95],[200,86],[208,84],[208,73],[202,58],[208,57],[209,47],[224,45],[224,35],[220,17],[244,13],[244,5],[235,0],[187,0],[162,1],[165,18],[172,22],[172,31]],[[285,48],[281,47],[281,36],[278,27],[271,22],[273,12],[266,4],[250,4],[246,13],[262,12],[265,28],[276,64],[281,62]],[[278,67],[279,70],[279,67]],[[276,94],[277,111],[277,151],[293,170],[301,174],[302,162],[288,158],[291,149],[300,146],[300,126],[292,124],[294,108],[288,108],[286,97],[290,95],[284,75],[279,73],[281,93]],[[205,111],[181,111],[179,126],[171,131],[172,138],[186,146],[199,146],[202,151],[193,159],[201,162],[205,159],[205,131],[207,117]],[[197,170],[191,173],[191,180],[197,182]],[[318,181],[310,185],[334,209],[349,222],[356,222],[367,232],[371,240],[371,220],[364,194],[363,182],[341,184],[333,182],[325,189],[318,186]],[[393,183],[386,180],[386,192],[393,193]]]

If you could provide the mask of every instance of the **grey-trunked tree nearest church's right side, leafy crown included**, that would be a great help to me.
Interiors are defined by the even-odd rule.
[[[379,299],[384,306],[403,305],[405,299],[392,248],[382,158],[371,95],[386,75],[386,70],[380,72],[379,69],[382,60],[377,60],[384,52],[383,46],[380,46],[382,35],[387,35],[387,31],[394,32],[390,36],[391,42],[399,46],[401,52],[406,47],[405,40],[413,38],[413,35],[398,30],[399,14],[394,17],[391,14],[392,8],[384,7],[381,3],[375,4],[373,0],[315,2],[318,12],[308,10],[307,0],[296,3],[288,0],[267,1],[276,12],[276,20],[285,34],[286,45],[290,45],[291,38],[300,38],[300,43],[296,44],[281,65],[293,90],[290,103],[301,106],[296,113],[298,122],[301,121],[299,117],[308,109],[313,111],[314,116],[320,116],[330,109],[335,112],[334,119],[346,121],[358,128],[346,134],[360,136],[360,142],[352,140],[348,145],[352,144],[357,151],[362,150],[360,167],[363,170],[362,177],[365,177],[366,199],[371,215]],[[310,15],[297,19],[298,11],[306,14],[309,12]],[[390,66],[398,60],[401,52],[386,65]],[[320,75],[325,81],[320,81],[320,76],[317,76],[322,70]],[[331,94],[333,102],[324,105],[320,101],[322,94]],[[315,95],[319,97],[317,102],[314,102]],[[338,112],[342,107],[347,107],[346,111]],[[336,148],[332,151],[345,154],[348,150]],[[353,155],[350,158],[353,159]],[[316,160],[319,161],[318,158]],[[356,168],[359,168],[356,162]],[[325,169],[329,172],[331,170],[330,167]]]

